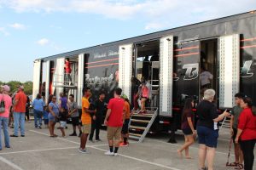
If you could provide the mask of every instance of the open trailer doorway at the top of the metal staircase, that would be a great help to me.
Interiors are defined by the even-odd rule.
[[[133,76],[150,84],[150,97],[146,107],[158,108],[160,82],[160,41],[140,42],[135,45]],[[134,89],[132,90],[134,93]],[[132,95],[133,97],[133,95]],[[133,104],[134,105],[134,104]]]

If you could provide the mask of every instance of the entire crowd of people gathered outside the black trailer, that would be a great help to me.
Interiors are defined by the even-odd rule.
[[[146,83],[131,82],[137,84],[137,90],[134,90],[133,102],[137,102],[137,94],[141,93],[142,98],[148,95],[143,94],[143,86]],[[139,92],[142,89],[141,92]],[[25,116],[27,106],[27,96],[24,94],[23,86],[17,87],[15,98],[12,99],[8,85],[1,86],[0,94],[0,124],[4,133],[5,147],[10,148],[9,137],[25,137]],[[88,153],[86,150],[87,139],[94,142],[94,133],[96,141],[100,139],[100,128],[102,118],[107,106],[107,113],[104,124],[107,126],[107,139],[109,150],[105,153],[108,156],[117,156],[119,146],[127,146],[129,144],[129,122],[131,117],[131,104],[128,97],[122,94],[122,89],[115,88],[113,99],[110,99],[108,105],[105,103],[105,92],[99,93],[98,99],[93,103],[90,98],[93,94],[90,88],[83,89],[82,113],[79,114],[78,104],[74,100],[74,95],[69,94],[68,99],[65,94],[59,94],[59,100],[55,95],[49,95],[48,103],[44,103],[41,94],[33,99],[34,127],[41,129],[44,117],[45,127],[49,127],[49,137],[55,138],[55,124],[58,122],[57,129],[61,130],[61,137],[66,137],[65,128],[67,128],[67,118],[71,118],[73,125],[73,133],[70,136],[78,136],[77,127],[79,128],[80,153]],[[197,123],[195,128],[195,108],[194,99],[186,99],[183,105],[182,114],[182,130],[184,133],[185,143],[177,150],[177,155],[182,157],[183,150],[185,158],[190,159],[189,146],[195,142],[195,136],[198,136],[199,143],[199,167],[201,170],[212,170],[215,151],[218,144],[218,122],[222,121],[225,116],[230,116],[230,133],[235,146],[235,161],[227,164],[227,166],[235,167],[235,169],[253,169],[253,149],[256,142],[256,109],[253,107],[252,99],[244,94],[235,95],[236,105],[228,112],[219,113],[214,104],[215,91],[207,89],[204,92],[203,99],[196,105]],[[144,105],[141,105],[143,108]],[[138,105],[134,105],[133,110],[137,110]],[[14,133],[9,135],[9,116],[13,111]],[[142,112],[142,111],[141,111]],[[1,130],[2,131],[2,130]],[[1,133],[0,133],[1,138]],[[0,150],[2,144],[0,140]],[[207,161],[207,166],[206,166]]]

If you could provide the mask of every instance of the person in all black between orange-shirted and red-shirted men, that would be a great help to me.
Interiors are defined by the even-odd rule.
[[[95,130],[96,130],[96,141],[102,141],[100,139],[100,128],[102,126],[102,115],[106,108],[104,99],[105,99],[105,92],[102,91],[100,93],[99,99],[96,99],[95,101],[96,119],[92,119],[90,138],[89,138],[90,141],[93,141],[93,135]]]

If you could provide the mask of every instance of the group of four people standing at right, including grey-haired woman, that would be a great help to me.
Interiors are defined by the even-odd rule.
[[[256,110],[253,107],[252,99],[244,94],[235,95],[236,105],[231,112],[225,110],[219,113],[214,105],[215,91],[207,89],[203,99],[196,106],[196,131],[192,108],[193,99],[186,99],[183,107],[182,130],[185,143],[177,150],[177,155],[182,157],[185,150],[185,158],[190,159],[189,146],[194,143],[197,134],[199,143],[199,167],[201,170],[213,170],[215,150],[218,144],[218,122],[225,116],[231,116],[230,133],[235,145],[235,161],[227,166],[235,169],[253,170],[253,150],[256,142]],[[207,161],[207,167],[206,167]]]

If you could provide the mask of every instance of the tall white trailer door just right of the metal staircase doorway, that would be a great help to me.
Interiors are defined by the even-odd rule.
[[[173,37],[160,38],[160,115],[172,116]]]

